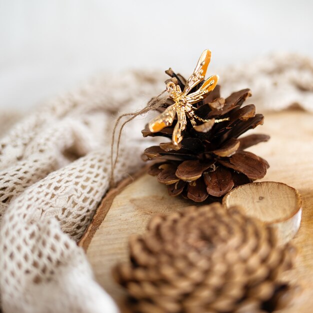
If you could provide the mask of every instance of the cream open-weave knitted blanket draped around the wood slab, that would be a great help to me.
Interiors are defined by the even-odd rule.
[[[227,90],[249,86],[259,107],[280,109],[296,102],[313,111],[313,66],[307,59],[296,60],[257,61],[248,72],[246,67],[225,71],[222,82]],[[135,71],[99,77],[42,104],[9,130],[9,115],[1,114],[3,312],[117,311],[76,241],[108,188],[116,116],[142,108],[164,89],[163,78]],[[145,121],[138,117],[123,132],[115,180],[140,166],[140,153],[151,143],[141,139]]]

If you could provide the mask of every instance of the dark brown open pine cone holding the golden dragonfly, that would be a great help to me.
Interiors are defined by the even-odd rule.
[[[166,72],[183,89],[184,78],[172,70]],[[193,128],[188,121],[178,146],[166,142],[144,150],[144,160],[158,161],[150,167],[149,173],[157,175],[158,181],[167,185],[170,195],[182,194],[196,202],[207,197],[216,201],[231,188],[260,179],[266,174],[269,167],[267,161],[244,149],[267,141],[269,136],[252,134],[238,139],[248,129],[263,123],[263,115],[255,114],[253,104],[241,107],[251,95],[250,90],[234,92],[224,99],[220,97],[219,89],[217,85],[202,101],[194,104],[197,108],[194,113],[202,119],[211,119],[209,122]],[[172,103],[168,98],[159,110],[164,110]],[[215,119],[224,118],[228,120],[214,123]],[[175,121],[155,133],[146,126],[142,134],[144,137],[170,138],[174,126]]]

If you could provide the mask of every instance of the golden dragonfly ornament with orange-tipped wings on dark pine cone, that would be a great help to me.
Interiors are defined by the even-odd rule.
[[[196,91],[189,93],[194,86],[204,79],[210,59],[211,51],[208,49],[204,50],[194,68],[193,73],[186,81],[183,91],[181,91],[178,84],[175,84],[172,81],[167,83],[166,89],[169,92],[169,97],[174,100],[174,104],[168,106],[164,112],[149,122],[148,126],[151,132],[157,132],[164,127],[170,126],[175,115],[177,115],[177,123],[172,133],[172,142],[174,145],[178,145],[178,143],[182,140],[181,133],[186,128],[186,115],[188,116],[193,127],[197,125],[195,119],[201,122],[209,122],[211,120],[203,119],[197,116],[194,113],[196,107],[192,106],[192,104],[202,100],[206,93],[215,88],[218,81],[218,75],[208,77]],[[227,119],[228,118],[215,119],[214,122],[221,122]]]

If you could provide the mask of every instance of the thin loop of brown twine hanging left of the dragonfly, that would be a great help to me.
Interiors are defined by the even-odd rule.
[[[115,166],[116,166],[116,162],[118,160],[118,151],[119,151],[119,144],[120,144],[120,137],[121,137],[121,132],[124,128],[124,126],[129,122],[131,121],[132,119],[134,119],[135,117],[137,117],[138,115],[142,115],[142,114],[145,114],[146,112],[148,111],[151,111],[153,109],[156,109],[158,107],[160,107],[162,104],[164,104],[164,99],[162,97],[162,95],[164,94],[164,92],[166,92],[166,90],[163,90],[160,94],[158,94],[157,96],[155,97],[152,97],[149,102],[147,103],[147,105],[140,109],[140,110],[137,110],[137,111],[134,111],[134,112],[130,112],[130,113],[123,113],[121,115],[119,115],[115,121],[115,124],[114,124],[114,128],[113,128],[113,132],[112,132],[112,140],[111,140],[111,155],[110,155],[110,163],[111,163],[111,173],[110,173],[110,187],[113,187],[115,186],[115,182],[114,182],[114,170],[115,170]],[[116,128],[117,128],[117,125],[119,123],[119,121],[125,117],[125,116],[131,116],[129,117],[127,120],[125,120],[120,128],[119,128],[119,131],[118,131],[118,138],[117,138],[117,143],[116,143],[116,155],[115,155],[115,159],[113,161],[113,149],[114,149],[114,140],[115,140],[115,132],[116,132]]]

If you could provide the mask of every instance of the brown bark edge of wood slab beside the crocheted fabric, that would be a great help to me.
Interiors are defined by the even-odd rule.
[[[81,246],[84,251],[87,250],[92,237],[94,236],[95,232],[101,225],[103,219],[105,218],[108,210],[110,209],[112,202],[116,195],[118,195],[127,185],[131,182],[142,176],[149,166],[143,166],[138,171],[132,173],[131,175],[127,176],[126,178],[122,179],[116,187],[108,189],[105,193],[103,199],[101,200],[100,205],[97,207],[90,224],[88,225],[87,229],[85,230],[84,234],[78,241],[77,245]]]

